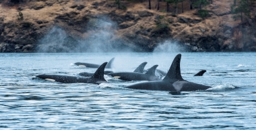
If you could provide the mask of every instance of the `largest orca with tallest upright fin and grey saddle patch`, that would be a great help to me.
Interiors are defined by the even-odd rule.
[[[211,88],[201,84],[196,84],[184,80],[181,76],[181,54],[178,54],[172,61],[172,65],[163,80],[141,82],[126,86],[125,88],[143,89],[143,90],[166,90],[172,92],[206,90]]]

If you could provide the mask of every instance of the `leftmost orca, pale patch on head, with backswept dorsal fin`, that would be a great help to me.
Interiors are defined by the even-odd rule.
[[[57,75],[57,74],[40,74],[36,77],[42,78],[44,80],[63,82],[63,83],[75,83],[75,82],[84,82],[84,83],[93,83],[100,84],[102,82],[107,82],[104,78],[104,68],[108,62],[104,62],[90,78],[82,76],[66,76],[66,75]]]

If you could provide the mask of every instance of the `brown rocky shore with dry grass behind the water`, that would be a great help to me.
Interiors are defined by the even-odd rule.
[[[152,52],[166,41],[189,52],[256,51],[256,13],[242,22],[232,0],[213,0],[210,15],[175,15],[165,2],[110,0],[0,1],[0,52]],[[181,5],[179,5],[181,6]],[[172,9],[173,7],[170,7]]]

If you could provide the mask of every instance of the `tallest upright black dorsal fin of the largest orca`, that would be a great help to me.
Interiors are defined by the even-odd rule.
[[[181,76],[181,54],[178,54],[172,61],[172,65],[163,80],[183,80]]]

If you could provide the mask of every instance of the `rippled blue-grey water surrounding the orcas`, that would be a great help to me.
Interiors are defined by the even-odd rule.
[[[212,86],[181,92],[132,90],[108,83],[65,84],[34,79],[38,74],[94,72],[75,62],[133,71],[141,62],[167,71],[177,53],[0,54],[2,129],[256,129],[256,53],[181,53],[185,80]],[[201,77],[193,74],[207,70]],[[141,81],[145,82],[145,81]]]

